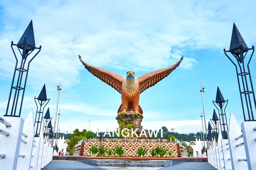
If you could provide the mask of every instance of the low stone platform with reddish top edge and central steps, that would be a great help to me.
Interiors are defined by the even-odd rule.
[[[53,156],[52,159],[79,161],[96,167],[170,167],[182,162],[207,162],[207,158]]]

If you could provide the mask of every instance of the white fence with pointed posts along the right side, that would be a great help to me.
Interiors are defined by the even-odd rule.
[[[231,112],[228,139],[219,133],[218,146],[213,142],[207,155],[218,170],[256,170],[256,122],[243,122],[240,128]]]

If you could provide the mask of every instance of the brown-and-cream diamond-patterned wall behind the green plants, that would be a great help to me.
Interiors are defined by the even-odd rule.
[[[84,156],[90,155],[90,147],[92,145],[96,145],[99,147],[99,142],[82,142],[82,146],[84,148]],[[102,146],[107,147],[108,149],[114,149],[117,146],[122,146],[125,151],[124,156],[136,156],[136,152],[139,147],[145,147],[148,149],[147,156],[150,155],[150,150],[155,149],[157,146],[163,146],[167,150],[172,150],[174,153],[172,156],[181,157],[180,144],[178,143],[158,143],[158,142],[102,142]],[[82,147],[81,147],[82,149]],[[79,152],[82,153],[81,150]]]

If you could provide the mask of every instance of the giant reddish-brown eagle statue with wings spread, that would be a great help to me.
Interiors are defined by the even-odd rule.
[[[79,59],[91,74],[98,77],[121,94],[122,104],[118,109],[118,113],[128,115],[132,112],[132,114],[142,115],[143,111],[139,105],[140,94],[172,73],[172,71],[180,65],[183,57],[168,68],[145,74],[137,79],[135,72],[132,70],[126,72],[126,79],[124,79],[122,76],[112,73],[111,71],[106,71],[102,68],[87,64],[81,59],[80,55]]]

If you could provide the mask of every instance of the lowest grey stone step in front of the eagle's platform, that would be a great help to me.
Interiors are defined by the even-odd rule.
[[[97,167],[164,167],[162,164],[152,164],[152,163],[99,163],[97,162]]]

